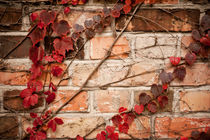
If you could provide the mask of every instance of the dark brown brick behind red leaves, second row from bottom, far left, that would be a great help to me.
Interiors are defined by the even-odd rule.
[[[39,98],[38,104],[31,107],[30,109],[25,109],[23,107],[23,99],[20,98],[21,90],[12,90],[4,92],[3,97],[3,107],[6,110],[14,110],[14,111],[28,111],[30,109],[38,108],[43,106],[44,100],[43,98]]]

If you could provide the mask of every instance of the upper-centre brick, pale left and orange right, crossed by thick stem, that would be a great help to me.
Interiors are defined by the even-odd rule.
[[[91,47],[90,47],[91,59],[102,59],[105,56],[106,52],[109,50],[113,42],[114,42],[113,37],[95,37],[91,39]],[[129,52],[130,52],[130,47],[128,40],[125,37],[122,37],[115,43],[111,54],[114,56],[110,58],[112,59],[127,58]]]

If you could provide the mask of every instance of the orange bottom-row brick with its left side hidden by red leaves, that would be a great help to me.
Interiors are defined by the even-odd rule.
[[[149,138],[151,136],[150,118],[141,116],[134,120],[129,126],[128,134],[136,139]],[[119,134],[120,139],[131,139],[128,135]]]

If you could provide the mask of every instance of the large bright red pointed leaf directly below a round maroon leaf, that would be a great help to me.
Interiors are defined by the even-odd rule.
[[[65,37],[61,39],[56,38],[53,41],[53,43],[54,43],[53,47],[55,51],[64,57],[66,55],[66,51],[74,50],[73,42],[70,37]]]

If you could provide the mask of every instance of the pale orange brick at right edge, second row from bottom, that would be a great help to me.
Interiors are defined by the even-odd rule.
[[[210,110],[210,91],[181,91],[180,111],[209,111]]]

